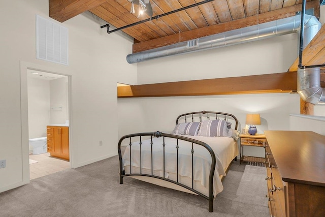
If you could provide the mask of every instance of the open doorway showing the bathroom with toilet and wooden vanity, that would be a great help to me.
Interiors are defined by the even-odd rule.
[[[71,168],[69,134],[67,141],[62,140],[66,141],[63,146],[68,149],[68,157],[62,158],[53,154],[53,138],[48,130],[58,127],[58,133],[62,129],[69,132],[69,76],[27,69],[27,99],[30,179]]]

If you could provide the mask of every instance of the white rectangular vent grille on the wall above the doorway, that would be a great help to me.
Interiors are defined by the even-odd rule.
[[[68,28],[36,15],[36,58],[68,63]]]

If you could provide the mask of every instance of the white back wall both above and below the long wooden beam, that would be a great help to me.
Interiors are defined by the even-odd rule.
[[[207,51],[138,63],[138,84],[287,72],[298,56],[298,35],[289,34]],[[236,85],[236,84],[234,84]],[[289,114],[300,113],[298,94],[251,94],[118,99],[119,137],[156,130],[170,132],[179,114],[212,110],[232,113],[245,127],[249,112],[261,114],[264,130],[290,130]],[[135,115],[136,114],[136,115]],[[245,154],[264,157],[264,150]]]

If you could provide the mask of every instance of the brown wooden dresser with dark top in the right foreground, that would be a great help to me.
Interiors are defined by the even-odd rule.
[[[271,216],[325,216],[325,136],[265,131]]]

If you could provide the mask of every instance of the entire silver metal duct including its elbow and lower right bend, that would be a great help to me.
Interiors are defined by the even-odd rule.
[[[229,32],[212,36],[180,42],[173,45],[150,49],[142,52],[128,54],[127,63],[139,63],[141,61],[164,56],[172,56],[230,45],[267,39],[275,36],[298,33],[300,30],[301,15],[279,19],[267,23],[248,26]],[[303,44],[306,47],[317,34],[321,24],[316,17],[305,15]],[[298,69],[298,93],[304,101],[312,104],[325,105],[325,90],[320,86],[319,68]]]

